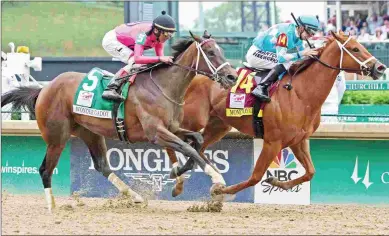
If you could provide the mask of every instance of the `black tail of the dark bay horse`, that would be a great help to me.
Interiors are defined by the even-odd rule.
[[[42,88],[20,86],[1,95],[1,107],[12,103],[12,111],[24,108],[35,116],[35,103]]]

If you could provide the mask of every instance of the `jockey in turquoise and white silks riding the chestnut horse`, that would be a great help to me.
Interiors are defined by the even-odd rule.
[[[311,38],[319,30],[319,20],[315,16],[300,16],[299,26],[294,23],[281,23],[261,32],[253,40],[247,51],[247,63],[254,68],[272,69],[252,94],[260,101],[270,102],[267,87],[286,72],[291,64],[302,57],[317,55],[316,49],[303,48],[303,40]],[[297,49],[290,53],[289,50]]]

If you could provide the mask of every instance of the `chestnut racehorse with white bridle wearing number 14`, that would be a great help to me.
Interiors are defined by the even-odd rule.
[[[330,93],[339,70],[358,73],[368,71],[374,79],[378,79],[386,69],[386,66],[376,60],[361,44],[345,36],[343,32],[332,32],[332,36],[321,49],[319,60],[310,58],[300,64],[302,66],[299,67],[299,72],[293,76],[293,89],[277,89],[271,102],[265,106],[263,149],[251,177],[242,183],[221,189],[220,193],[235,194],[256,185],[273,158],[285,147],[292,149],[306,173],[291,181],[280,182],[274,177],[266,181],[286,190],[312,179],[315,168],[309,153],[308,139],[319,127],[321,106]],[[279,88],[289,79],[290,76],[286,75]],[[206,158],[204,150],[223,138],[231,127],[255,137],[252,116],[226,116],[227,95],[228,91],[220,89],[205,76],[196,77],[188,88],[182,127],[193,131],[204,128],[204,144],[201,147],[203,158]],[[174,151],[167,151],[171,162],[176,163]],[[180,176],[192,166],[193,161],[189,160],[184,167],[172,169],[171,176]],[[173,196],[183,191],[183,179],[179,179],[174,186]]]

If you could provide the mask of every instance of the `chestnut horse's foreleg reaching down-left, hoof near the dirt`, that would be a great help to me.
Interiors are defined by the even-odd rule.
[[[242,191],[243,189],[256,185],[262,179],[273,158],[280,150],[280,142],[264,142],[262,152],[259,155],[257,162],[255,163],[254,171],[251,174],[251,177],[239,184],[220,189],[220,193],[235,194],[239,191]]]

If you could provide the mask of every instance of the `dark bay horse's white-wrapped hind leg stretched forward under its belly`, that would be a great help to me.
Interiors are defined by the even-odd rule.
[[[134,192],[110,169],[106,157],[107,145],[105,144],[104,137],[92,133],[84,127],[79,127],[76,131],[76,135],[88,146],[95,170],[102,173],[120,193],[131,196],[135,203],[142,203],[144,201],[143,198],[138,193]]]

